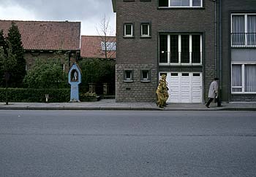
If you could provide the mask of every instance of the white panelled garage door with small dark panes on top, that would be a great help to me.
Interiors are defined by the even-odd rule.
[[[161,72],[159,75],[162,74],[167,74],[168,103],[202,103],[202,73]]]

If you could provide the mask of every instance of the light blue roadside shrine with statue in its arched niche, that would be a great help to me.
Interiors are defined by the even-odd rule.
[[[69,68],[70,102],[79,101],[79,84],[81,83],[81,70],[77,63]]]

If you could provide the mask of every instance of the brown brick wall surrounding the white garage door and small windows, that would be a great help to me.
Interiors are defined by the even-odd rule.
[[[151,23],[149,39],[140,37],[140,23],[143,22]],[[123,37],[124,23],[134,24],[134,38]],[[207,98],[209,83],[214,78],[214,2],[203,1],[200,9],[158,9],[157,0],[136,0],[116,1],[116,101],[155,101],[159,71],[158,36],[163,31],[203,34],[204,57],[200,70],[203,71],[204,98]],[[132,83],[124,82],[123,72],[128,66],[135,67],[135,73],[139,68],[150,67],[152,81],[141,83],[140,79],[135,79]]]

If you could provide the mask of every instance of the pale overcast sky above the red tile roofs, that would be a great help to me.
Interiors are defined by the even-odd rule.
[[[106,17],[116,34],[111,0],[0,0],[0,20],[80,21],[81,35],[99,35]]]

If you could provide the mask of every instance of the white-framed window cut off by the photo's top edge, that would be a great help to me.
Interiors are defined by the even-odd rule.
[[[159,0],[159,7],[203,7],[203,0]]]

